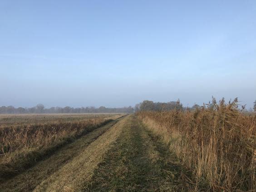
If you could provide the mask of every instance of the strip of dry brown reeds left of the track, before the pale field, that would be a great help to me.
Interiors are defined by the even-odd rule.
[[[112,119],[51,121],[0,127],[0,180],[30,167],[37,160]]]

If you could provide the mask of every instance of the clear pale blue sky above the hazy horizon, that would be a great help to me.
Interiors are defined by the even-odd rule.
[[[0,106],[256,100],[256,0],[0,0]]]

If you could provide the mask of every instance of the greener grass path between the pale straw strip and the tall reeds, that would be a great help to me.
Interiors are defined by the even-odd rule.
[[[190,175],[133,115],[81,191],[188,191]]]

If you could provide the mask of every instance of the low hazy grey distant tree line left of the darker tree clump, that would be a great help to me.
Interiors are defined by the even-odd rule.
[[[106,108],[106,107],[81,107],[81,108],[73,108],[73,107],[51,107],[45,108],[43,104],[38,104],[32,108],[15,108],[13,106],[2,106],[0,107],[1,114],[9,114],[9,113],[133,113],[134,108],[123,107],[123,108]]]

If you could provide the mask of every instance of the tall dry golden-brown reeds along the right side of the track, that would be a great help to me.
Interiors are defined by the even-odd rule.
[[[256,115],[241,113],[236,100],[138,116],[194,170],[198,183],[206,180],[217,191],[256,190]]]

